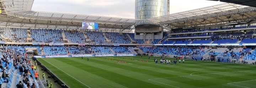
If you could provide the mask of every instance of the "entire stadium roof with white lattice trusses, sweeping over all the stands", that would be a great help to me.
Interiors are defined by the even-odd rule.
[[[168,28],[223,23],[229,20],[256,18],[256,8],[237,4],[221,4],[196,10],[180,12],[161,17],[139,20],[129,18],[104,17],[96,15],[41,12],[31,10],[34,0],[0,0],[2,14],[0,21],[9,24],[47,25],[47,28],[66,26],[66,29],[81,29],[81,22],[96,22],[103,30],[131,31],[135,25],[156,24]],[[242,15],[242,17],[241,17]],[[231,17],[228,19],[227,17]],[[204,21],[202,21],[204,20]],[[8,25],[7,23],[5,24]],[[32,26],[33,27],[33,26]],[[41,26],[43,27],[43,26]]]

